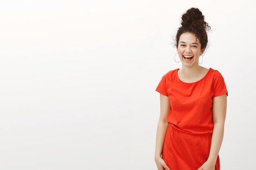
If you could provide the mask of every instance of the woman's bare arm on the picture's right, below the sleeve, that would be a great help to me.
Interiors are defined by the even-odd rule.
[[[227,94],[213,98],[213,134],[208,162],[216,163],[224,136],[224,124],[227,112]]]

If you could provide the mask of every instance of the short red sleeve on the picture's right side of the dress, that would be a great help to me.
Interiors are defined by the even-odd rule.
[[[227,87],[226,87],[224,78],[222,77],[220,72],[217,71],[217,74],[213,79],[213,97],[224,95],[226,93],[228,96]]]

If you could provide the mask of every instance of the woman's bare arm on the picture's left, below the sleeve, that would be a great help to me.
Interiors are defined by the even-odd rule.
[[[157,135],[155,144],[155,159],[161,157],[164,146],[164,137],[168,128],[167,116],[171,110],[169,97],[160,93],[160,117],[157,125]]]

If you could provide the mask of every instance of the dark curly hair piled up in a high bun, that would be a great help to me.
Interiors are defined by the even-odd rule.
[[[202,15],[202,12],[198,8],[191,8],[186,13],[183,13],[181,25],[176,34],[176,48],[182,33],[195,34],[196,41],[198,38],[201,43],[201,50],[206,48],[208,42],[206,30],[211,30],[211,26],[204,21],[204,15]]]

